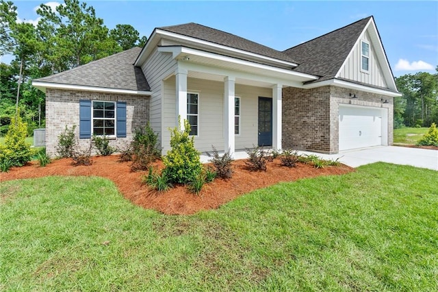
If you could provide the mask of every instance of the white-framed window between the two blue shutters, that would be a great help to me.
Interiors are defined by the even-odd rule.
[[[92,113],[92,134],[98,136],[116,134],[116,103],[114,101],[93,101]]]

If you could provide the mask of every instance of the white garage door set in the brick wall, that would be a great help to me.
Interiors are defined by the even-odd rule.
[[[381,108],[339,106],[339,151],[382,145]]]

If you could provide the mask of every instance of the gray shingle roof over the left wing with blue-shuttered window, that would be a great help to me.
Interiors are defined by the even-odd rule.
[[[127,51],[34,81],[149,91],[151,87],[146,81],[142,69],[133,66],[133,62],[140,51],[140,47],[134,47]]]

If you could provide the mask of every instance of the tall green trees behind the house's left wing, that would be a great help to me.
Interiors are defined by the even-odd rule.
[[[53,10],[40,4],[38,23],[18,19],[12,1],[0,1],[0,56],[10,54],[10,64],[0,63],[0,136],[17,108],[29,134],[44,127],[45,95],[31,81],[60,73],[114,53],[142,46],[146,36],[129,24],[108,29],[85,2],[65,0]]]

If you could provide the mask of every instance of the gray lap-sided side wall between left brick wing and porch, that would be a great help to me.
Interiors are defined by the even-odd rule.
[[[164,132],[162,124],[162,82],[164,78],[175,73],[176,68],[177,62],[173,60],[172,54],[161,53],[156,49],[146,62],[142,64],[142,71],[152,91],[151,104],[149,105],[149,120],[153,130],[158,133],[160,141],[162,141]]]

